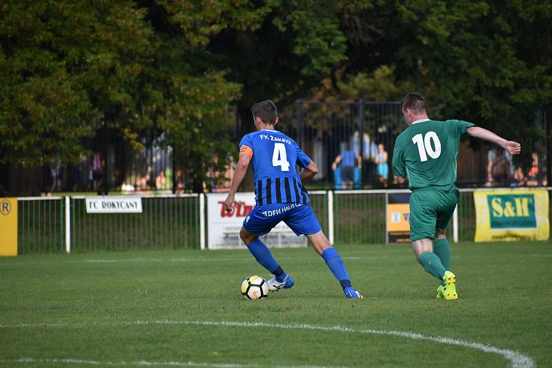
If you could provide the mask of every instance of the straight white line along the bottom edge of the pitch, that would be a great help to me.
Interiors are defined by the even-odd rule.
[[[214,367],[214,368],[256,368],[256,367],[266,367],[264,365],[242,365],[235,363],[205,363],[205,362],[150,362],[148,360],[136,360],[134,362],[109,362],[109,361],[100,361],[100,360],[87,360],[87,359],[74,359],[74,358],[63,358],[63,359],[34,359],[34,358],[19,358],[13,360],[0,360],[3,363],[38,363],[38,364],[88,364],[88,365],[145,365],[145,366],[170,366],[170,367]],[[320,367],[317,365],[279,365],[282,368],[332,368],[332,367]]]

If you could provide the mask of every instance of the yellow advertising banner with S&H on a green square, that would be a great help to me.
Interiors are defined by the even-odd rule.
[[[475,241],[546,241],[550,236],[547,190],[476,190]]]

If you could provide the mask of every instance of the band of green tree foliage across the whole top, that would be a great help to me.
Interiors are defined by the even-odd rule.
[[[155,130],[199,185],[235,154],[234,103],[245,133],[259,99],[415,88],[432,116],[532,150],[533,114],[552,105],[551,18],[548,2],[520,0],[4,1],[0,162],[76,161],[102,126],[136,145]]]

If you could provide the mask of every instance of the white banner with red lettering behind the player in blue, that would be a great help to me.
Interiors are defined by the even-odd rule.
[[[207,247],[209,249],[246,248],[239,238],[239,230],[246,216],[255,206],[255,193],[236,193],[234,212],[226,212],[226,193],[207,196]],[[279,223],[261,240],[268,247],[306,247],[306,237],[296,236],[285,223]]]

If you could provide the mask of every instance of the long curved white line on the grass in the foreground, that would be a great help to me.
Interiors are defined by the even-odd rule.
[[[68,325],[63,323],[44,325],[44,324],[22,324],[22,325],[0,325],[0,328],[6,327],[64,327],[64,326],[81,326],[82,324]],[[399,336],[404,338],[410,338],[413,340],[427,340],[435,343],[442,343],[447,345],[456,345],[461,347],[467,347],[469,349],[476,349],[483,351],[484,353],[493,353],[503,356],[510,362],[510,367],[513,368],[531,368],[535,367],[535,361],[519,351],[510,349],[499,349],[491,345],[483,345],[481,343],[472,343],[464,340],[457,340],[455,338],[446,338],[443,336],[424,336],[422,334],[416,334],[408,331],[393,331],[393,330],[381,330],[381,329],[352,329],[350,327],[342,326],[319,326],[308,324],[290,324],[284,325],[279,323],[264,323],[264,322],[235,322],[235,321],[213,321],[213,320],[137,320],[135,322],[119,322],[119,323],[92,323],[92,325],[201,325],[201,326],[231,326],[231,327],[262,327],[262,328],[276,328],[276,329],[310,329],[317,331],[339,331],[339,332],[352,332],[356,334],[374,334],[374,335],[388,335]],[[249,366],[248,366],[249,367]]]

